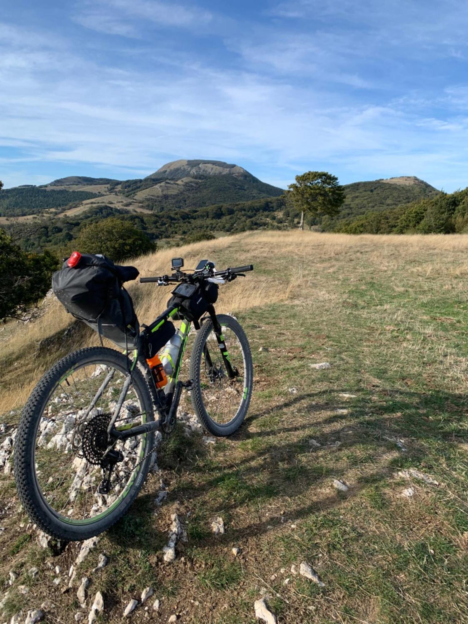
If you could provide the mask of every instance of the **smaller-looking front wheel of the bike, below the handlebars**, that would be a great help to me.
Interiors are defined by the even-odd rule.
[[[236,376],[230,379],[211,319],[198,330],[190,356],[192,402],[198,420],[213,436],[232,435],[241,426],[250,404],[253,364],[244,330],[233,316],[218,314],[224,351]]]

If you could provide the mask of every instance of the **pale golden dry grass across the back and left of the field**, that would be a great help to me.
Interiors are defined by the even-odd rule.
[[[363,254],[369,263],[369,273],[386,271],[397,274],[398,266],[409,262],[414,263],[409,266],[409,271],[416,274],[417,280],[424,281],[442,273],[450,278],[464,278],[468,276],[468,261],[457,261],[451,265],[447,262],[447,256],[441,256],[442,251],[457,253],[462,250],[468,250],[468,236],[462,234],[351,236],[294,230],[246,233],[163,249],[136,258],[132,263],[139,268],[142,276],[168,273],[170,260],[177,255],[183,256],[187,268],[195,266],[202,256],[214,260],[218,268],[254,263],[254,277],[249,276],[246,280],[240,278],[220,291],[217,310],[222,313],[285,301],[291,296],[300,302],[300,285],[306,280],[311,268],[333,275],[337,266],[341,266],[343,258],[353,263]],[[426,256],[424,263],[417,261],[421,253]],[[314,291],[314,301],[322,304],[326,300],[330,305],[331,299],[337,296],[336,284],[324,283],[324,286],[324,289]],[[461,279],[455,285],[447,283],[444,287],[466,293],[466,286]],[[395,291],[401,288],[398,280],[394,281],[393,288]],[[147,324],[164,310],[170,296],[168,288],[151,284],[135,283],[129,287],[129,291],[134,297],[140,323]],[[408,296],[411,297],[412,293],[408,293]],[[431,296],[431,291],[426,296]],[[71,324],[71,316],[66,314],[57,301],[46,301],[45,306],[46,313],[39,321],[26,326],[14,323],[13,328],[8,328],[10,338],[3,345],[4,357],[0,366],[0,413],[24,404],[41,375],[67,351],[98,344],[97,336],[84,328],[78,333],[75,342],[62,340],[61,333]],[[53,340],[54,336],[58,337],[56,341]],[[51,348],[47,348],[44,353],[41,346],[47,344],[47,341],[51,342]],[[21,374],[18,374],[18,369]]]

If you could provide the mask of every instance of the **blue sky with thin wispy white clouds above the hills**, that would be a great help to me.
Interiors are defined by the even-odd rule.
[[[468,185],[463,0],[6,2],[0,179],[144,177],[178,158],[285,187]]]

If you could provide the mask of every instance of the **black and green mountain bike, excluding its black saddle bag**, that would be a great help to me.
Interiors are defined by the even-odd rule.
[[[171,300],[176,303],[150,326],[162,331],[164,324],[181,321],[180,349],[165,387],[159,387],[142,349],[91,347],[52,366],[24,407],[14,451],[17,490],[32,521],[57,539],[94,537],[127,512],[158,439],[176,425],[184,388],[198,421],[213,436],[230,436],[245,419],[253,381],[245,332],[230,314],[217,314],[212,303],[201,318],[193,318],[183,298],[178,303],[178,290],[222,285],[253,266],[216,271],[203,260],[193,272],[182,267],[182,258],[175,258],[171,275],[140,278],[158,286],[178,283]],[[179,379],[181,371],[187,379]]]

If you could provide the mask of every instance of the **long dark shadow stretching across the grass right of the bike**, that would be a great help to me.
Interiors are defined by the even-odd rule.
[[[177,461],[161,461],[163,472],[178,470],[191,479],[190,485],[170,492],[160,513],[178,500],[184,509],[193,509],[207,529],[194,539],[189,532],[190,545],[210,549],[237,544],[285,526],[285,517],[286,521],[302,520],[346,504],[368,484],[386,483],[403,462],[420,461],[434,443],[449,449],[454,442],[466,441],[462,394],[395,389],[376,401],[368,389],[357,388],[353,395],[341,389],[308,392],[254,411],[224,443],[227,452],[225,446],[217,452],[216,445],[211,448],[189,439]],[[449,425],[437,417],[439,409],[450,411]],[[271,417],[278,420],[271,424]],[[280,443],[278,431],[284,436]],[[241,445],[243,455],[238,457],[236,448]],[[346,474],[349,459],[346,463],[344,458],[359,456],[363,447],[372,457],[370,466],[354,478],[346,493],[336,492],[331,481]],[[223,463],[226,456],[229,459]],[[207,464],[212,467],[208,474]],[[251,485],[259,474],[261,484]],[[308,504],[301,503],[305,497],[311,499]],[[144,507],[151,507],[153,500],[153,493],[140,496]],[[288,500],[293,501],[289,507]],[[268,514],[229,524],[252,502],[268,506]],[[225,519],[227,532],[210,535],[210,520],[218,515]],[[158,530],[150,532],[155,544],[160,544]]]

